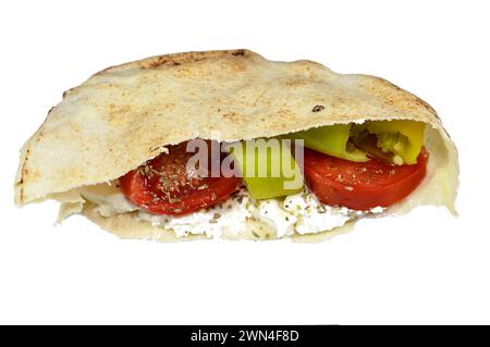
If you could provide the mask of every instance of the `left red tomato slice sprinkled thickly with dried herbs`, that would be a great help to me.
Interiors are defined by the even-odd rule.
[[[187,161],[194,153],[186,152],[186,141],[170,146],[169,153],[120,177],[126,198],[154,214],[180,215],[208,208],[238,189],[240,177],[224,177],[221,173],[219,177],[210,177],[211,162],[207,177],[199,177],[197,170],[187,170]]]

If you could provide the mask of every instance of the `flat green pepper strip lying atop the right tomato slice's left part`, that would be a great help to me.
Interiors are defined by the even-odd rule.
[[[364,162],[368,158],[357,148],[347,146],[351,124],[335,124],[310,128],[284,135],[285,138],[303,139],[305,147],[316,151],[351,161]]]

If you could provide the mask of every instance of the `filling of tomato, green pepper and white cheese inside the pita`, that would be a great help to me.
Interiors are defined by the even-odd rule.
[[[429,158],[424,131],[420,122],[368,121],[286,134],[272,138],[277,146],[201,140],[203,150],[189,140],[120,177],[110,194],[83,196],[101,215],[134,212],[176,236],[232,234],[249,220],[269,225],[270,237],[324,232],[417,188]]]

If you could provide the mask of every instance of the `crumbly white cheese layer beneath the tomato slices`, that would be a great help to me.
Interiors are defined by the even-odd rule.
[[[84,189],[81,193],[85,199],[98,205],[96,211],[102,216],[137,211],[139,220],[171,230],[177,237],[189,234],[217,238],[223,234],[236,235],[245,230],[250,219],[268,224],[278,238],[294,233],[314,234],[331,231],[368,213],[383,211],[382,208],[365,212],[326,206],[307,191],[282,199],[254,200],[242,189],[224,202],[198,212],[186,215],[157,215],[128,202],[114,186]]]

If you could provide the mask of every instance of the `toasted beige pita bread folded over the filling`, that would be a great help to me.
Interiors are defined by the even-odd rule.
[[[110,222],[114,218],[100,221],[89,205],[84,209],[78,189],[120,177],[164,146],[401,119],[428,124],[431,160],[422,185],[390,210],[402,213],[431,203],[455,213],[454,144],[428,103],[385,79],[338,74],[306,60],[269,61],[248,50],[152,57],[106,69],[63,94],[22,148],[15,203],[58,199],[60,216],[83,210],[118,230],[122,225]],[[148,235],[143,228],[133,227]]]

